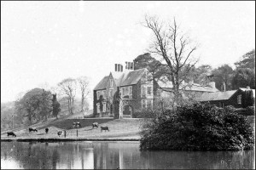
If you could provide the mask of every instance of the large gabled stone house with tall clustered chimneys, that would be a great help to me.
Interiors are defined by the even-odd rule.
[[[117,99],[118,98],[118,99]],[[93,91],[93,114],[116,118],[153,107],[153,81],[147,69],[133,70],[133,63],[115,64],[115,71],[103,77]],[[118,105],[115,101],[118,100]]]

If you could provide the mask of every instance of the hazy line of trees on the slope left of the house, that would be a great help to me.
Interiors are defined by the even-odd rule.
[[[87,77],[67,78],[55,87],[48,88],[44,84],[44,88],[33,88],[23,93],[15,102],[1,104],[1,130],[88,111],[88,85]],[[76,98],[77,91],[81,94],[80,99]]]

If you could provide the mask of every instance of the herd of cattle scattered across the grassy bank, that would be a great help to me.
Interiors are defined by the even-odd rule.
[[[81,124],[80,124],[80,122],[73,122],[73,128],[79,128],[79,127],[82,127],[81,126]],[[92,128],[94,128],[94,127],[99,127],[99,123],[97,123],[97,122],[94,122],[94,123],[92,123]],[[108,131],[109,132],[109,127],[108,126],[106,126],[106,127],[102,127],[101,126],[101,131]],[[36,128],[32,128],[32,127],[29,127],[28,128],[28,132],[29,133],[32,133],[32,132],[38,132],[38,130],[36,129]],[[49,128],[45,128],[45,133],[48,133],[49,132]],[[58,131],[57,132],[57,135],[60,137],[61,136],[61,133],[62,133],[62,131]],[[14,133],[14,132],[8,132],[7,133],[7,136],[9,137],[9,136],[13,136],[13,137],[16,137],[16,134]]]

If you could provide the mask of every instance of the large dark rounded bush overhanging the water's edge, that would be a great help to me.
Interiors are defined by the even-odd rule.
[[[143,126],[141,149],[241,150],[253,147],[245,116],[209,104],[178,107]]]

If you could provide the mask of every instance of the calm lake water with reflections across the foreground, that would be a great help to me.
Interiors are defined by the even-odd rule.
[[[1,142],[3,169],[253,169],[254,150],[140,151],[138,142]]]

